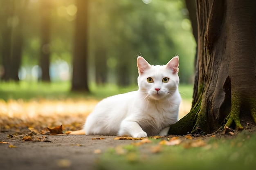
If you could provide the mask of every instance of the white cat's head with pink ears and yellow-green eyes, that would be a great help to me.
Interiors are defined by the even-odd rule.
[[[139,90],[149,99],[159,100],[175,93],[179,84],[179,57],[164,66],[152,66],[141,56],[137,58]]]

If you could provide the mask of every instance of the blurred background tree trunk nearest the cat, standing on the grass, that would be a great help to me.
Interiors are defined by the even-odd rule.
[[[72,91],[88,92],[88,15],[89,0],[76,0]]]

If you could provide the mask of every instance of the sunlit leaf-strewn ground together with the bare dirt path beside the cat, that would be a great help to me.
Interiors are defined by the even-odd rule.
[[[100,152],[139,142],[115,140],[112,136],[44,135],[46,127],[63,125],[64,131],[81,129],[97,102],[0,100],[0,170],[93,170],[97,169]],[[188,113],[190,107],[189,102],[182,104],[180,116]],[[26,135],[31,132],[34,134]],[[22,141],[24,136],[32,137],[33,141]],[[104,139],[92,139],[99,137]]]

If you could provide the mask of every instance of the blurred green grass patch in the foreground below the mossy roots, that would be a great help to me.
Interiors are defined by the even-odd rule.
[[[198,140],[187,139],[176,146],[158,147],[159,141],[142,146],[123,146],[120,155],[110,148],[99,159],[100,170],[252,170],[256,167],[256,133],[244,130],[237,137],[210,137],[205,145],[191,147]],[[146,150],[146,151],[145,151]]]

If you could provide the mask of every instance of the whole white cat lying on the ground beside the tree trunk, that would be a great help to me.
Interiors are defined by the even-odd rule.
[[[167,135],[179,117],[179,57],[164,66],[137,58],[139,90],[103,99],[85,121],[86,135]]]

